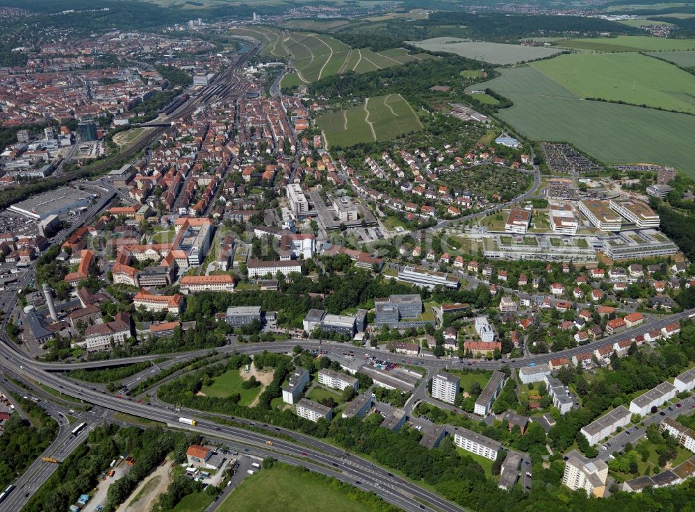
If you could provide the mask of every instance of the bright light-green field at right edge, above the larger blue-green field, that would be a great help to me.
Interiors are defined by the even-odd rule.
[[[573,53],[532,66],[582,98],[695,113],[695,76],[639,53]]]

